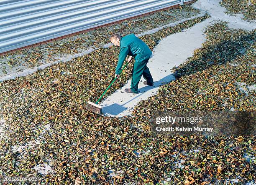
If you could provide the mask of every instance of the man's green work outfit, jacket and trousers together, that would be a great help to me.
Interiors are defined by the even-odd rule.
[[[122,69],[123,62],[127,55],[135,56],[135,62],[132,70],[131,90],[138,93],[138,83],[141,76],[147,80],[147,83],[153,83],[153,78],[146,66],[152,52],[148,45],[134,34],[126,35],[120,39],[120,53],[118,64],[115,68],[115,74],[119,75]]]

